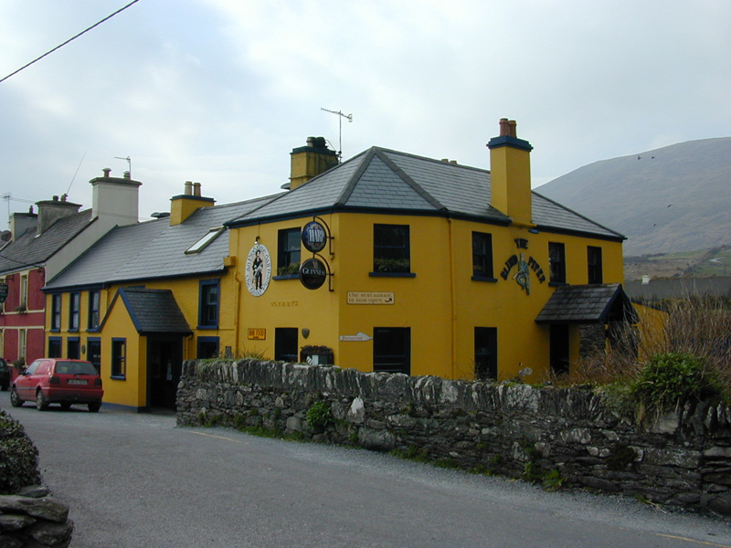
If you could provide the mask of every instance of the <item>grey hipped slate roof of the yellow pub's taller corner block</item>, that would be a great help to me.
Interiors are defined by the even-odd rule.
[[[507,225],[491,201],[488,170],[372,147],[228,223],[243,227],[317,212],[387,211],[473,218]],[[624,239],[618,232],[533,193],[533,221],[546,230]]]

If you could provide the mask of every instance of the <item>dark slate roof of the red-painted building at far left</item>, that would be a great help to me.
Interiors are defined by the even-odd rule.
[[[29,228],[16,241],[0,248],[0,274],[28,267],[41,267],[69,240],[91,223],[91,210],[61,217],[36,237],[36,228]]]

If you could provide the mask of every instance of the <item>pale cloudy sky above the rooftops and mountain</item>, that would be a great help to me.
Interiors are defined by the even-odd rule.
[[[0,79],[130,1],[0,0]],[[0,82],[0,218],[88,208],[104,167],[131,165],[141,219],[185,181],[274,194],[311,135],[489,169],[501,118],[535,187],[731,136],[729,52],[727,0],[139,0]]]

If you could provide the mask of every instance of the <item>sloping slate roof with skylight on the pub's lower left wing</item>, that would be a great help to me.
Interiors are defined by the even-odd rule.
[[[60,290],[143,279],[194,276],[224,269],[228,257],[228,230],[223,230],[206,248],[185,255],[213,227],[246,214],[266,203],[264,196],[236,204],[201,207],[179,225],[163,217],[128,227],[115,227],[69,267],[46,284]]]

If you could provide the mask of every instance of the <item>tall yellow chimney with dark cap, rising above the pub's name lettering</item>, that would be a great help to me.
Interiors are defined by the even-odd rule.
[[[531,161],[533,150],[517,138],[514,120],[500,121],[500,136],[487,143],[490,149],[491,205],[509,216],[514,225],[534,227],[531,214]]]

